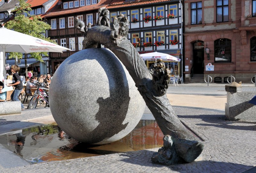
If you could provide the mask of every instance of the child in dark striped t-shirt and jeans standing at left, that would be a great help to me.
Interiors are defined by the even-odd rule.
[[[22,81],[20,79],[20,76],[18,74],[18,71],[20,70],[20,67],[17,66],[17,65],[12,65],[11,66],[11,72],[13,73],[13,78],[14,78],[14,83],[9,83],[7,84],[6,86],[14,86],[15,89],[14,91],[12,92],[12,95],[11,95],[11,99],[12,101],[20,101],[19,100],[19,95],[20,95],[20,92],[21,90],[23,89],[23,85],[22,85]],[[21,104],[21,110],[24,110],[25,107],[23,106],[23,104],[20,102]]]

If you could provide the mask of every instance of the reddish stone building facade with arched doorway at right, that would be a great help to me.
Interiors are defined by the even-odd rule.
[[[256,75],[255,5],[253,0],[184,1],[185,81],[203,74],[213,82],[227,82],[232,75],[251,83]]]

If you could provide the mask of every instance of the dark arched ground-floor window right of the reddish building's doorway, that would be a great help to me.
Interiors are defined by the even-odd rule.
[[[221,38],[214,41],[214,62],[231,62],[231,40]]]

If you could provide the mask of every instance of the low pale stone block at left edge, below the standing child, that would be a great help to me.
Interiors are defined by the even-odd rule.
[[[0,115],[21,114],[20,101],[0,102]]]

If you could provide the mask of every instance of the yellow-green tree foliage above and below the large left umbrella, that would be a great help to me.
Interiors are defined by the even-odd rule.
[[[50,38],[45,37],[45,30],[51,29],[51,26],[45,23],[41,16],[30,15],[28,12],[32,9],[30,4],[26,3],[25,0],[19,0],[20,6],[16,7],[12,12],[15,13],[13,20],[6,22],[5,27],[13,29],[14,31],[31,35],[49,42],[52,42]],[[54,42],[52,42],[54,43]],[[48,56],[47,52],[34,52],[30,53],[30,58],[35,58],[39,61],[42,60],[42,54]],[[22,53],[11,52],[9,58],[22,58]]]

